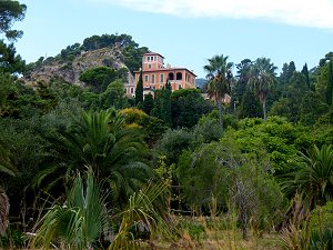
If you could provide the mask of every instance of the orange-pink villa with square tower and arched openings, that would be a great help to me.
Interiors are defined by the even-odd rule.
[[[164,57],[159,53],[144,53],[142,56],[142,83],[144,93],[162,89],[167,80],[171,83],[172,91],[179,89],[194,89],[195,74],[186,68],[164,67]],[[135,94],[140,70],[134,71],[134,86],[127,87],[127,94]]]

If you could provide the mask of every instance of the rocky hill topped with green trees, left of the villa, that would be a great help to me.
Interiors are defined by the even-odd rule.
[[[83,43],[68,46],[53,57],[40,58],[37,62],[28,64],[30,71],[24,74],[28,84],[38,81],[50,81],[60,78],[67,82],[84,86],[79,80],[80,74],[95,67],[110,67],[127,73],[128,84],[134,82],[133,70],[141,66],[141,56],[148,48],[139,48],[128,34],[103,34],[84,39]]]

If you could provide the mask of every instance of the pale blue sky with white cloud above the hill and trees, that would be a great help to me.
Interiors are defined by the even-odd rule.
[[[27,61],[53,57],[84,38],[127,33],[141,47],[199,78],[214,54],[229,61],[271,58],[315,67],[333,51],[332,0],[20,0],[26,19],[17,51]]]

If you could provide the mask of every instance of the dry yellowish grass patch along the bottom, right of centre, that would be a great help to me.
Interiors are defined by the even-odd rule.
[[[264,233],[258,237],[249,230],[248,240],[242,239],[242,231],[230,221],[211,218],[175,218],[175,220],[186,220],[186,222],[202,226],[200,236],[191,233],[189,228],[179,227],[180,236],[173,242],[162,242],[155,240],[150,244],[141,244],[140,249],[154,250],[281,250],[281,236],[279,233]],[[206,222],[209,219],[209,223]],[[189,224],[186,224],[189,226]],[[192,237],[191,237],[192,234]]]

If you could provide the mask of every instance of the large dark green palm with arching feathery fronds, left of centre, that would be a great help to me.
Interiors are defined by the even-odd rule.
[[[97,178],[105,179],[113,198],[127,199],[149,178],[142,137],[125,128],[124,119],[115,111],[85,112],[48,139],[57,162],[39,174],[38,183],[49,173],[57,171],[60,178],[69,178],[88,166]]]

